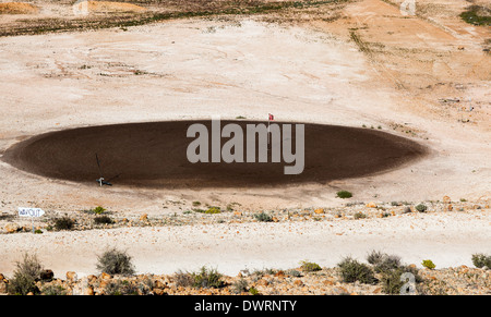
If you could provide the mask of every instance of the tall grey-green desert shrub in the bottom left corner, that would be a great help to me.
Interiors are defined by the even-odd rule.
[[[39,279],[43,265],[36,255],[24,254],[22,261],[16,263],[13,278],[9,281],[8,292],[10,294],[26,295],[27,293],[38,293],[35,282]]]

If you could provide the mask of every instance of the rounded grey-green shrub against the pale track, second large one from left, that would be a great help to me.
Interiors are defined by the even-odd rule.
[[[131,256],[125,252],[110,248],[97,257],[97,269],[109,275],[131,276],[134,273],[134,266]]]

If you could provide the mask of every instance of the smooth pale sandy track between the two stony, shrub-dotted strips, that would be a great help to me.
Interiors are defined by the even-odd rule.
[[[140,273],[195,271],[202,266],[235,276],[249,269],[290,269],[302,260],[335,267],[344,257],[364,261],[375,251],[400,256],[422,267],[466,265],[489,249],[488,210],[452,214],[407,214],[364,220],[249,222],[212,225],[121,228],[2,235],[0,265],[11,273],[24,252],[36,253],[46,268],[64,278],[98,273],[97,256],[108,247],[124,249]],[[16,246],[13,248],[12,246]]]

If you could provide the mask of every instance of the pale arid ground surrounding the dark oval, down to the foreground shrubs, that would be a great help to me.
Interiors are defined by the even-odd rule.
[[[371,249],[445,268],[472,266],[471,254],[491,252],[491,33],[489,22],[459,16],[471,4],[489,14],[489,3],[417,0],[412,15],[399,0],[127,2],[100,11],[92,3],[80,16],[71,1],[36,0],[36,10],[0,14],[1,273],[27,252],[56,276],[92,275],[107,246],[127,249],[142,273],[211,265],[237,275],[303,259],[333,267]],[[360,178],[241,188],[151,188],[117,179],[100,187],[95,159],[94,182],[80,183],[1,157],[67,129],[213,115],[266,121],[268,113],[376,130],[428,154]],[[342,190],[352,197],[337,197]],[[420,203],[427,212],[415,210]],[[200,214],[197,205],[221,214]],[[84,210],[97,206],[119,225],[82,229]],[[35,220],[43,234],[31,233],[17,207],[46,211]],[[309,217],[291,220],[304,210]],[[248,220],[261,211],[277,221]],[[355,219],[358,211],[369,217]],[[77,230],[46,230],[61,216],[79,219]],[[12,223],[26,229],[7,234]]]

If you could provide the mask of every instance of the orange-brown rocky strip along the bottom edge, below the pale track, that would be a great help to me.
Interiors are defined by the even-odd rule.
[[[419,269],[422,281],[419,295],[490,295],[491,271],[486,268],[459,266],[445,269]],[[218,288],[180,285],[178,275],[137,275],[131,277],[107,273],[77,278],[68,271],[63,278],[39,280],[36,286],[44,295],[383,295],[383,283],[344,282],[338,268],[309,272],[302,268],[267,269],[223,276]],[[7,293],[9,279],[0,275],[0,294]],[[32,293],[33,294],[33,293]]]

